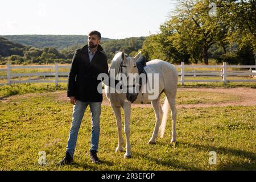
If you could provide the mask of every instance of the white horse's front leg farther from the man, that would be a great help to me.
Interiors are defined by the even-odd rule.
[[[131,146],[130,146],[130,117],[131,117],[131,103],[126,102],[123,105],[123,111],[125,112],[125,135],[126,135],[126,152],[123,158],[131,158]]]

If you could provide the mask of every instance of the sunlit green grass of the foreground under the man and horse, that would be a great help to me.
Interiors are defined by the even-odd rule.
[[[164,138],[158,139],[155,145],[148,145],[154,129],[154,111],[135,107],[131,111],[131,159],[123,159],[123,152],[114,152],[118,138],[113,111],[110,106],[102,106],[98,152],[103,161],[101,165],[89,161],[91,126],[88,109],[79,131],[76,163],[56,167],[64,156],[72,105],[57,101],[55,97],[53,93],[42,93],[0,102],[0,170],[256,169],[256,106],[179,109],[175,146],[169,144],[170,121]],[[216,165],[208,163],[208,154],[212,150],[217,152]],[[46,152],[47,164],[44,166],[38,164],[39,151]]]

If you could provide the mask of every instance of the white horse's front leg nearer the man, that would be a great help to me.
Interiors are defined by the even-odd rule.
[[[117,131],[118,131],[118,146],[115,152],[123,151],[123,136],[122,136],[122,118],[121,118],[121,108],[112,105],[112,109],[115,114],[115,120],[117,121]]]

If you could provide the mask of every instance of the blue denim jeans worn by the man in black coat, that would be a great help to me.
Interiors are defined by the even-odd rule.
[[[100,137],[100,115],[101,115],[101,102],[82,102],[76,100],[73,106],[73,117],[71,129],[69,130],[67,151],[73,157],[76,147],[77,135],[81,125],[82,118],[87,106],[90,106],[90,117],[92,123],[92,133],[90,137],[90,152],[98,151],[98,140]]]

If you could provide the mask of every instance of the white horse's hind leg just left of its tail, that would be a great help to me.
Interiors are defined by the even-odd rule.
[[[152,100],[151,104],[154,108],[155,111],[155,129],[153,131],[152,137],[149,140],[148,144],[155,144],[155,139],[158,137],[158,131],[159,131],[159,127],[161,125],[161,120],[163,117],[163,111],[162,108],[160,106],[160,96],[158,97],[157,100]]]

